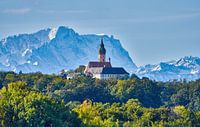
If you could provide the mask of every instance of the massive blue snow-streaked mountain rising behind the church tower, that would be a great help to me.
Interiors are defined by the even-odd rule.
[[[120,41],[107,35],[79,35],[71,28],[40,30],[33,34],[10,36],[0,41],[0,69],[4,71],[58,73],[97,60],[104,39],[113,66],[129,70],[137,67]]]

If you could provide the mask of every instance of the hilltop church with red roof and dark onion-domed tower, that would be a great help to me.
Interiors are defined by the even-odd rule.
[[[104,47],[103,39],[98,52],[98,61],[90,61],[85,68],[84,73],[98,79],[109,78],[125,78],[129,73],[122,67],[112,67],[110,58],[106,61],[106,49]]]

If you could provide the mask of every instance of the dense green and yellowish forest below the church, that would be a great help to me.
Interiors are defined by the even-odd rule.
[[[0,72],[2,127],[198,127],[200,80]]]

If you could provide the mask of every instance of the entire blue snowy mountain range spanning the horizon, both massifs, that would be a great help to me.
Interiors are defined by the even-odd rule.
[[[71,70],[89,61],[96,61],[100,40],[103,38],[107,60],[112,66],[124,67],[129,73],[157,81],[200,78],[200,58],[137,67],[120,41],[112,35],[80,35],[73,29],[60,26],[32,34],[9,36],[0,41],[0,70],[15,72],[58,73]]]

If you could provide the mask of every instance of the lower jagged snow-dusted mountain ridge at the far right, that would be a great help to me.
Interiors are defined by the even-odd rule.
[[[139,67],[136,74],[139,77],[148,77],[157,81],[196,80],[200,78],[200,58],[189,56],[177,61],[146,65]]]

